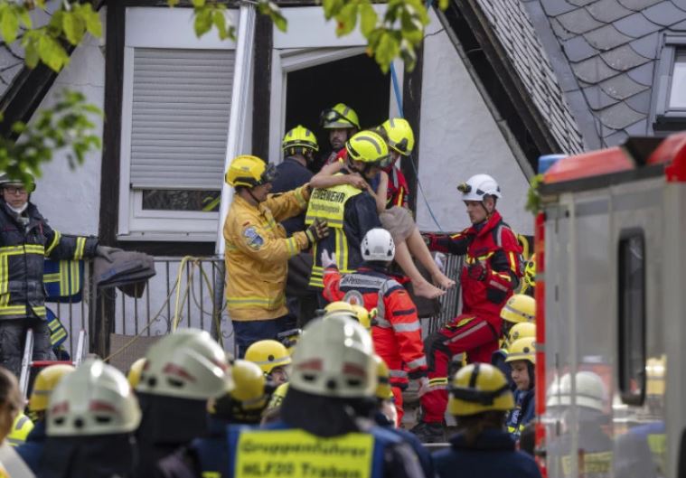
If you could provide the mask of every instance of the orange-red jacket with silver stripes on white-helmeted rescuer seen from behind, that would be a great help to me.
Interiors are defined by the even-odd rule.
[[[390,384],[404,389],[408,379],[427,375],[427,357],[421,339],[421,324],[411,297],[395,279],[380,268],[362,266],[341,276],[335,267],[324,271],[324,298],[377,309],[371,327],[374,350],[390,369]]]

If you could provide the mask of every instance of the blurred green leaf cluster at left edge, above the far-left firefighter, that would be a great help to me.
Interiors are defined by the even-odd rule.
[[[39,110],[30,124],[17,121],[12,126],[19,139],[0,136],[0,171],[28,183],[29,173],[41,175],[41,166],[52,155],[66,149],[71,168],[89,151],[100,148],[90,117],[101,116],[99,108],[85,102],[80,92],[63,90],[52,108]]]

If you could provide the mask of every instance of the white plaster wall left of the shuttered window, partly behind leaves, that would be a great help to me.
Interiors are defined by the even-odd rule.
[[[104,27],[104,12],[100,18]],[[68,88],[79,90],[89,103],[104,109],[105,57],[100,52],[100,42],[90,35],[84,38],[72,52],[70,64],[60,72],[39,108],[52,105],[56,94]],[[94,133],[102,138],[102,119],[95,119],[97,127]],[[66,151],[57,151],[52,162],[43,166],[32,201],[53,228],[72,234],[98,234],[101,160],[100,150],[91,152],[84,164],[72,170]]]

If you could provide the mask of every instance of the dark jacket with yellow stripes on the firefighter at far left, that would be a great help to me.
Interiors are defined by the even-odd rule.
[[[45,318],[44,259],[92,258],[97,238],[61,235],[29,202],[21,216],[0,201],[0,320]]]

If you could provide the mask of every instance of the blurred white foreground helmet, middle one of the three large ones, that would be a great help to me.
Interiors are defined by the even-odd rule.
[[[181,329],[146,353],[136,391],[164,397],[208,399],[233,389],[226,354],[209,333]]]

